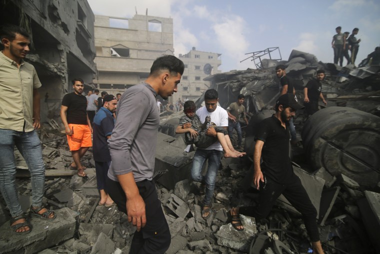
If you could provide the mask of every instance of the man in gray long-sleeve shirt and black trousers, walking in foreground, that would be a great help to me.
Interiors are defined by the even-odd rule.
[[[169,227],[152,180],[159,126],[156,96],[166,100],[176,92],[183,70],[183,62],[174,56],[157,58],[147,79],[127,89],[117,105],[105,186],[118,209],[136,226],[129,253],[164,253],[170,245]]]

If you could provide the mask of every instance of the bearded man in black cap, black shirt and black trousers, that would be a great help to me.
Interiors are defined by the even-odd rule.
[[[232,207],[228,221],[238,231],[243,230],[239,214],[265,218],[280,194],[303,216],[314,253],[323,253],[316,224],[316,209],[300,179],[293,172],[289,158],[289,132],[286,122],[302,109],[292,94],[281,95],[275,104],[275,113],[258,126],[253,153],[253,186],[259,190],[257,206]],[[262,163],[260,161],[262,160]]]

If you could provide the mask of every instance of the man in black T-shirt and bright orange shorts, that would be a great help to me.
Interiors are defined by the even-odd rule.
[[[86,111],[87,101],[82,95],[83,80],[77,78],[71,82],[74,92],[63,96],[60,106],[60,119],[64,124],[68,147],[73,159],[70,168],[77,170],[78,176],[84,177],[86,176],[85,167],[80,163],[80,158],[92,146],[92,127]]]

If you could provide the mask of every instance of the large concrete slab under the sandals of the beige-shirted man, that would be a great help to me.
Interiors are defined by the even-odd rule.
[[[23,253],[35,253],[50,246],[54,246],[61,241],[72,238],[75,234],[76,224],[76,219],[73,214],[77,213],[68,208],[54,211],[56,213],[56,218],[54,220],[32,216],[29,221],[33,228],[26,236],[10,233],[8,223],[1,225],[1,252],[14,253],[23,249]]]

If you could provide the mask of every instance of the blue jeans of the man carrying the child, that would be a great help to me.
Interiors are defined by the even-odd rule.
[[[211,204],[211,197],[215,186],[216,173],[219,168],[223,151],[196,149],[192,159],[191,178],[193,181],[206,184],[203,205]],[[203,163],[208,159],[208,168],[205,176],[202,176]]]

